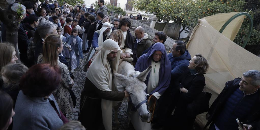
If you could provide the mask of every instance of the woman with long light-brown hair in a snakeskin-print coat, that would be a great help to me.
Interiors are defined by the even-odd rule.
[[[71,88],[74,84],[70,77],[68,67],[59,61],[59,53],[63,50],[62,40],[59,35],[51,34],[43,41],[42,54],[38,57],[38,64],[48,63],[51,66],[59,66],[61,70],[60,86],[53,92],[61,112],[66,116],[73,109],[73,101],[70,96]]]

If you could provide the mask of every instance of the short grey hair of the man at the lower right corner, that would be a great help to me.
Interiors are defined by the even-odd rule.
[[[247,78],[252,78],[252,85],[260,85],[260,72],[258,70],[249,70],[243,73],[243,76]]]

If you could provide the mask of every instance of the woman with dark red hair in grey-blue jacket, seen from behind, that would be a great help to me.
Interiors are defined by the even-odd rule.
[[[59,129],[66,117],[52,95],[61,82],[61,70],[50,64],[32,66],[20,81],[13,129]]]

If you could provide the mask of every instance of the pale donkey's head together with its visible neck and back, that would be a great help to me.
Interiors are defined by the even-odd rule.
[[[129,62],[122,61],[118,67],[118,73],[114,73],[114,78],[118,79],[118,83],[123,85],[130,94],[135,109],[139,112],[140,119],[143,122],[150,120],[150,113],[146,105],[146,76],[152,69],[150,65],[145,71],[134,71],[134,66]],[[140,74],[139,74],[140,73]],[[117,113],[116,113],[117,114]]]

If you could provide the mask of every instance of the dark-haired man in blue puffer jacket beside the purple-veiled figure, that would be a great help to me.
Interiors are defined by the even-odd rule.
[[[159,129],[160,127],[162,127],[163,123],[167,118],[165,116],[169,114],[168,112],[170,112],[173,109],[172,107],[174,106],[171,106],[171,103],[175,104],[174,95],[177,91],[176,89],[174,89],[172,83],[174,83],[174,80],[180,77],[181,74],[188,70],[188,66],[190,64],[189,61],[191,60],[191,55],[189,51],[186,50],[186,44],[181,40],[174,41],[171,52],[172,53],[168,54],[168,58],[170,59],[172,65],[171,83],[158,101],[160,104],[157,111],[158,114],[156,117],[156,119],[158,119],[158,122],[152,126],[152,128],[154,129]]]

